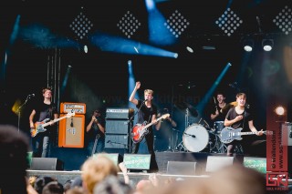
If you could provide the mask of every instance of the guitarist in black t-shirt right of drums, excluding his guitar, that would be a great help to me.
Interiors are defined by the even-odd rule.
[[[231,128],[243,128],[243,131],[246,131],[248,127],[250,131],[254,132],[256,136],[262,136],[264,134],[263,129],[257,131],[254,126],[254,120],[250,112],[245,108],[246,104],[246,95],[245,93],[238,93],[236,95],[235,107],[229,109],[224,120],[225,127]],[[243,142],[244,143],[244,142]],[[232,156],[235,150],[236,145],[240,145],[240,141],[232,141],[227,145],[227,155]]]

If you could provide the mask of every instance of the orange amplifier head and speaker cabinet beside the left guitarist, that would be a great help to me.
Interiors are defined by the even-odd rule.
[[[84,128],[86,105],[84,103],[61,103],[60,116],[75,111],[75,116],[67,117],[59,121],[58,147],[84,148]]]

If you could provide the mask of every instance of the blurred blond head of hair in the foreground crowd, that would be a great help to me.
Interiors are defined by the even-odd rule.
[[[88,158],[81,167],[81,178],[89,191],[93,193],[94,186],[109,175],[118,176],[118,167],[104,153],[95,155],[94,158]]]

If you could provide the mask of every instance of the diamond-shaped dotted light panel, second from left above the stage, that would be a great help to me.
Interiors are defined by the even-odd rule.
[[[121,17],[117,26],[125,36],[130,38],[141,26],[141,23],[133,14],[130,13],[130,11],[128,11],[125,15]]]

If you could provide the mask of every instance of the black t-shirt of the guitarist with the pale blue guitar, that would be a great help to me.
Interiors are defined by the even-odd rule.
[[[250,131],[250,129],[248,127],[248,121],[253,120],[253,116],[252,116],[252,114],[247,112],[246,109],[242,114],[237,114],[236,111],[235,111],[235,107],[232,107],[227,112],[226,118],[228,120],[232,120],[232,119],[234,119],[235,117],[237,117],[239,115],[243,115],[244,119],[235,122],[233,125],[231,125],[231,127],[232,128],[243,128],[242,131]]]

